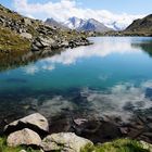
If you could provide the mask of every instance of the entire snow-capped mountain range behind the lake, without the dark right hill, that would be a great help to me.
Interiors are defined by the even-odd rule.
[[[48,18],[46,24],[56,26],[59,28],[71,28],[76,30],[85,30],[85,31],[99,31],[104,33],[109,30],[124,30],[128,25],[124,24],[124,22],[114,21],[111,23],[103,24],[94,18],[83,20],[78,17],[69,17],[65,22],[58,22],[53,18]]]

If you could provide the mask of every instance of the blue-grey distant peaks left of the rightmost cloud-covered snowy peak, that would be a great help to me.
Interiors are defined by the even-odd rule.
[[[52,22],[53,21],[53,22]],[[71,29],[76,29],[79,31],[97,31],[97,33],[105,33],[113,30],[112,28],[105,26],[97,20],[83,20],[78,17],[69,17],[67,21],[60,23],[54,21],[53,18],[48,18],[46,24],[55,25],[56,27],[67,27]]]

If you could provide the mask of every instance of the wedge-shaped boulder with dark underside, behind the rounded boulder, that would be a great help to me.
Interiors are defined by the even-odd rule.
[[[7,125],[4,131],[11,134],[23,128],[29,128],[43,137],[49,131],[49,123],[41,114],[35,113]]]

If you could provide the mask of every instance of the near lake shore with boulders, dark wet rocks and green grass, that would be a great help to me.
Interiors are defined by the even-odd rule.
[[[51,126],[55,128],[55,130],[53,130],[53,128],[49,128],[50,125],[46,117],[43,117],[39,113],[34,113],[5,125],[4,135],[8,136],[5,142],[9,147],[4,144],[4,139],[2,138],[0,138],[0,145],[3,147],[3,150],[12,149],[16,151],[25,149],[25,147],[23,145],[26,145],[27,148],[30,147],[42,152],[52,150],[64,151],[65,149],[68,152],[88,152],[93,150],[106,151],[106,148],[109,148],[109,151],[112,151],[113,149],[118,150],[118,145],[122,149],[126,149],[125,144],[128,143],[130,144],[127,148],[128,150],[131,150],[134,148],[141,151],[147,150],[148,152],[151,152],[152,144],[144,142],[144,139],[132,137],[135,135],[137,136],[137,132],[135,131],[135,127],[137,127],[137,124],[134,125],[135,127],[134,132],[131,132],[131,137],[126,138],[125,136],[118,136],[118,134],[121,135],[122,132],[126,135],[126,127],[128,126],[126,126],[124,129],[116,128],[116,124],[119,124],[121,126],[121,123],[118,123],[121,122],[119,118],[111,118],[112,117],[105,116],[100,121],[88,121],[85,118],[73,119],[72,128],[76,129],[77,131],[74,131],[72,129],[65,131],[63,130],[63,128],[65,128],[63,124],[52,123]],[[141,125],[141,122],[142,121],[140,117],[137,123]],[[15,138],[17,138],[17,140],[15,140]],[[96,141],[94,139],[97,138],[98,140]],[[136,141],[135,139],[138,141]],[[60,143],[62,143],[62,147],[60,145]],[[67,144],[69,144],[71,147],[68,147]]]

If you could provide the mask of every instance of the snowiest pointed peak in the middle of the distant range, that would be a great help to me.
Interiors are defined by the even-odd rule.
[[[63,25],[67,26],[71,29],[78,29],[81,27],[86,22],[78,17],[71,17],[63,23]]]

